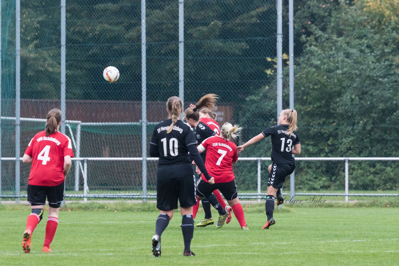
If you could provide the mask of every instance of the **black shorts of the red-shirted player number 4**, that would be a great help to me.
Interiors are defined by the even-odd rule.
[[[32,206],[45,205],[46,196],[51,208],[59,208],[64,199],[64,182],[54,187],[28,184],[28,202]]]

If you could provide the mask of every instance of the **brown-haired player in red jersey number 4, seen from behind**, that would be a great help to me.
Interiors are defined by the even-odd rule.
[[[53,241],[58,225],[58,211],[64,194],[64,180],[71,168],[73,157],[71,140],[58,132],[61,125],[61,111],[57,108],[47,114],[45,131],[36,134],[26,148],[22,162],[32,164],[28,178],[28,202],[31,214],[26,220],[26,230],[22,240],[25,253],[31,250],[32,233],[43,218],[43,206],[49,203],[49,214],[43,244],[43,252],[52,252]]]

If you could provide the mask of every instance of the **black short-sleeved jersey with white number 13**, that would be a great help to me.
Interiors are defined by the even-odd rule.
[[[299,144],[299,136],[296,131],[291,136],[287,135],[288,125],[282,124],[272,126],[262,132],[263,136],[271,136],[273,164],[294,164],[295,159],[292,157],[291,149],[293,145]]]

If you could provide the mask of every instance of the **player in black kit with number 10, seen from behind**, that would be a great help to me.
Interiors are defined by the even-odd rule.
[[[169,119],[160,122],[155,128],[150,142],[150,156],[159,157],[156,177],[156,207],[160,215],[156,219],[155,235],[152,236],[152,254],[161,255],[161,234],[178,208],[182,214],[184,256],[195,256],[190,250],[194,232],[193,205],[196,204],[194,171],[192,160],[201,169],[209,183],[214,183],[201,156],[198,153],[194,133],[189,126],[179,120],[182,113],[182,100],[170,97],[166,102]],[[190,154],[189,154],[190,153]]]

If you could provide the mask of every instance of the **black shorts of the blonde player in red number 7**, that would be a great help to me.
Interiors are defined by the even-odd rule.
[[[228,201],[231,201],[238,196],[235,179],[227,183],[214,183],[213,185],[203,181],[202,179],[198,179],[197,181],[196,192],[199,197],[209,197],[216,189],[219,189],[220,193],[222,193]]]

